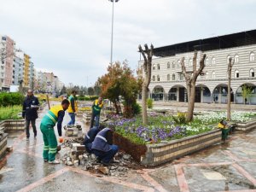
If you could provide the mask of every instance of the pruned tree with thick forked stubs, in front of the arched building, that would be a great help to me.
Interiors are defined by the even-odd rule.
[[[205,59],[206,54],[201,57],[199,62],[199,68],[196,69],[197,61],[197,51],[195,50],[193,57],[193,69],[192,72],[188,72],[185,63],[184,57],[181,60],[182,74],[186,81],[187,91],[188,91],[188,113],[187,113],[187,122],[190,122],[193,119],[193,113],[195,108],[195,83],[199,75],[203,75],[203,69],[205,68]]]

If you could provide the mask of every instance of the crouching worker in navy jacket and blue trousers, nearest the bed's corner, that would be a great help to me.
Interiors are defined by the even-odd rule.
[[[113,145],[113,130],[104,128],[96,135],[91,146],[92,153],[96,155],[98,160],[105,166],[108,166],[113,156],[118,152],[119,147]]]

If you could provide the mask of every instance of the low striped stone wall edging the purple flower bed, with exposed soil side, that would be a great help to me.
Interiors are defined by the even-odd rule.
[[[143,166],[159,166],[221,142],[221,130],[207,131],[159,144],[136,145],[115,134],[114,143]]]

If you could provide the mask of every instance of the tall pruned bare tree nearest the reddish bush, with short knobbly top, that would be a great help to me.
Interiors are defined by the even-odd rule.
[[[148,44],[142,46],[139,45],[139,52],[143,55],[143,90],[142,90],[142,107],[143,107],[143,124],[148,124],[148,113],[147,113],[147,96],[148,96],[148,85],[151,81],[151,70],[152,70],[152,57],[154,55],[154,46],[151,44],[150,49],[148,49]]]

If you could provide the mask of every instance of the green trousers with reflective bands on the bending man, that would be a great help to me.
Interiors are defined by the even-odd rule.
[[[43,133],[44,139],[44,152],[43,157],[44,160],[53,161],[55,160],[55,154],[57,153],[57,139],[55,136],[55,130],[53,127],[49,125],[40,125],[40,130]]]

